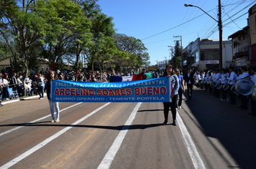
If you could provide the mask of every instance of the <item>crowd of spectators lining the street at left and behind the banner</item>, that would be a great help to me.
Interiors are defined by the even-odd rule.
[[[35,72],[34,69],[30,69],[28,75],[25,76],[13,70],[11,67],[6,67],[0,71],[0,104],[1,100],[16,99],[24,96],[24,89],[26,95],[39,95],[39,99],[43,99],[45,92],[45,84],[47,82],[49,72],[51,69],[40,69]],[[145,69],[143,70],[146,72]],[[142,72],[143,72],[142,71]],[[79,81],[79,82],[112,82],[111,77],[113,76],[132,76],[140,72],[115,72],[115,71],[83,71],[79,70],[75,72],[68,69],[57,69],[58,79],[68,81]],[[163,72],[151,72],[152,78],[160,77]],[[24,82],[24,84],[23,84]],[[12,89],[13,95],[9,93],[9,89]]]

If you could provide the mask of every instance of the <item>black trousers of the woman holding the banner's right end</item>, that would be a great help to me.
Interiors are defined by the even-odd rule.
[[[174,95],[172,102],[163,102],[163,113],[165,115],[165,120],[168,121],[169,109],[173,114],[173,120],[176,120],[176,105],[177,105],[178,95]]]

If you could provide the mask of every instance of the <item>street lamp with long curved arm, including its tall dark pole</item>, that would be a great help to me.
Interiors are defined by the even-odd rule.
[[[201,9],[199,6],[194,6],[191,4],[184,4],[184,6],[188,7],[196,7],[198,9]],[[201,9],[201,11],[204,11],[203,9]],[[214,17],[212,17],[211,15],[209,15],[206,11],[204,11],[205,14],[207,14],[208,16],[210,16],[212,19],[214,19]],[[219,26],[219,69],[222,69],[222,21],[221,21],[221,0],[219,0],[219,21],[217,21],[216,19],[214,19],[214,21],[218,22],[218,26]]]

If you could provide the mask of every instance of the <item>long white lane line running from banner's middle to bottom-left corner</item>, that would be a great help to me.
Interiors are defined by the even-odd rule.
[[[90,117],[91,115],[93,115],[94,113],[98,112],[99,110],[103,109],[104,107],[106,107],[107,105],[109,105],[111,102],[106,103],[105,105],[99,107],[98,109],[94,110],[93,112],[89,113],[88,115],[86,115],[85,117],[81,118],[80,120],[77,120],[76,122],[74,122],[72,125],[65,127],[63,130],[60,130],[59,132],[57,132],[55,135],[52,135],[51,137],[47,138],[46,140],[42,141],[41,143],[39,143],[38,145],[35,145],[35,147],[27,150],[25,153],[23,153],[22,155],[19,155],[17,158],[14,158],[13,160],[10,160],[8,163],[6,163],[5,165],[2,165],[0,167],[0,169],[5,169],[5,168],[10,168],[12,167],[12,165],[18,163],[19,161],[23,160],[24,158],[27,158],[27,156],[31,155],[32,153],[34,153],[35,151],[39,150],[40,148],[44,147],[45,145],[47,145],[48,143],[50,143],[52,140],[54,140],[55,138],[59,137],[60,135],[62,135],[64,132],[70,130],[74,125],[78,125],[80,122],[82,122],[83,120],[86,120],[88,117]]]

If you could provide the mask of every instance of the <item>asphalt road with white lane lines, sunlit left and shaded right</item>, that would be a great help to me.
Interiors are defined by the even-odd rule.
[[[255,168],[250,110],[196,87],[184,95],[176,127],[162,125],[161,102],[62,102],[58,123],[46,98],[4,102],[0,168]]]

